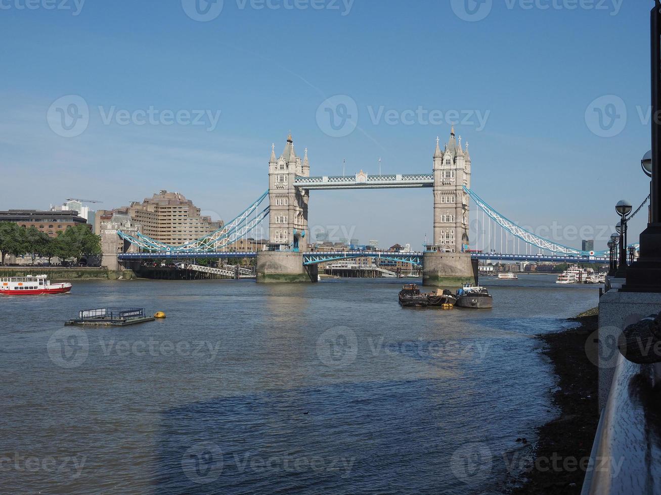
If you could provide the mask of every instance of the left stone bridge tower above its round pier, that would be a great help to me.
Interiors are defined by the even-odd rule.
[[[268,162],[268,238],[271,244],[286,244],[293,251],[307,251],[309,195],[295,187],[296,176],[309,177],[310,164],[307,160],[307,149],[302,160],[296,156],[290,135],[280,158],[276,158],[273,145]]]

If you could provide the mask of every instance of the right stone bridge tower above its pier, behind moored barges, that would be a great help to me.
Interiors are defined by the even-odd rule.
[[[468,143],[461,148],[461,136],[457,143],[454,126],[444,150],[439,141],[434,152],[434,246],[461,253],[469,244],[469,195],[463,186],[471,187],[471,156]]]

